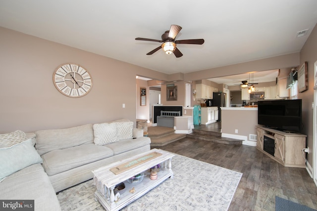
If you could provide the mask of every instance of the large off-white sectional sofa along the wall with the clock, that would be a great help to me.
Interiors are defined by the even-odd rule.
[[[94,169],[150,150],[151,144],[143,130],[134,128],[129,120],[39,130],[27,134],[31,139],[3,147],[9,143],[8,135],[0,135],[0,158],[5,164],[0,164],[0,172],[5,169],[3,172],[9,173],[0,173],[0,200],[34,199],[39,211],[60,210],[55,193],[93,178]],[[19,156],[13,161],[8,158],[7,154],[26,144],[29,153],[22,160],[34,157],[32,161],[21,166],[14,161]]]

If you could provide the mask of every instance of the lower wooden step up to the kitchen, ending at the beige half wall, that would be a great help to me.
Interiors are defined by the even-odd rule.
[[[242,145],[243,140],[240,139],[234,139],[234,138],[225,138],[221,137],[221,135],[208,135],[208,134],[202,134],[193,132],[190,134],[187,134],[186,137],[189,138],[195,138],[199,140],[205,140],[205,141],[211,141],[216,143],[222,143],[222,144],[234,144],[234,145]]]

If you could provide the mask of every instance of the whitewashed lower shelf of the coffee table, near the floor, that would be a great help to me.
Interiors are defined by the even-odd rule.
[[[144,175],[142,182],[129,183],[124,181],[125,192],[120,195],[119,200],[114,205],[110,205],[109,198],[103,196],[99,191],[95,192],[95,200],[98,200],[107,211],[118,211],[158,186],[168,177],[173,177],[171,169],[160,169],[156,180],[150,179],[150,171],[145,172],[145,174],[147,175]],[[135,190],[134,193],[130,193],[132,188]]]

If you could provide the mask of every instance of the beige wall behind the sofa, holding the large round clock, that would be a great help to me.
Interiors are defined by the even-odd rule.
[[[5,28],[0,28],[0,37],[0,133],[120,118],[135,122],[136,75],[167,79],[156,71]],[[90,72],[93,87],[86,96],[70,98],[55,88],[53,72],[67,62]]]

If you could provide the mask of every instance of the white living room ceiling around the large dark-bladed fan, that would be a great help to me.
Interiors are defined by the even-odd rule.
[[[0,0],[2,27],[166,74],[299,52],[316,23],[317,0]],[[146,55],[171,24],[205,43]]]

